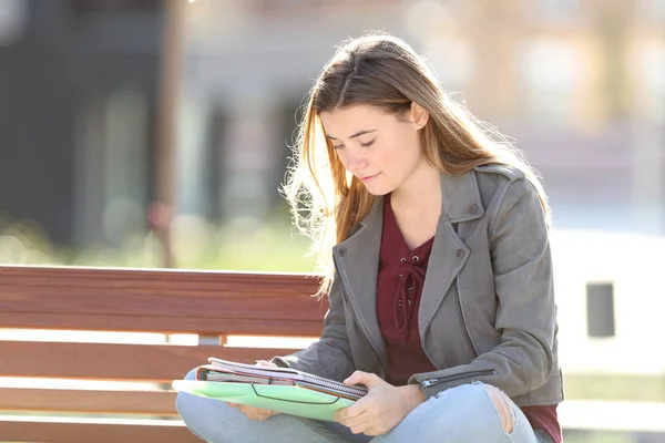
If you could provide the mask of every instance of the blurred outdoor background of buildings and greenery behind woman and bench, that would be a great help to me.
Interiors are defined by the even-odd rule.
[[[665,442],[665,0],[0,0],[0,262],[311,271],[278,186],[369,30],[544,177],[566,441]]]

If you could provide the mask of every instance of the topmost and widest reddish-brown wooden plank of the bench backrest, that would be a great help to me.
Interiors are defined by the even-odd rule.
[[[318,282],[286,274],[0,266],[0,327],[20,327],[22,316],[30,328],[85,329],[99,319],[103,330],[145,331],[152,319],[158,332],[243,333],[234,328],[255,319],[320,333],[327,301],[311,297]]]

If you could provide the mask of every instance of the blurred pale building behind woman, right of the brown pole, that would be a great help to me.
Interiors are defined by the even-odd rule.
[[[311,81],[341,39],[375,29],[427,53],[458,99],[518,140],[555,226],[665,230],[661,0],[197,0],[182,207],[267,210]],[[193,166],[203,158],[216,173]]]

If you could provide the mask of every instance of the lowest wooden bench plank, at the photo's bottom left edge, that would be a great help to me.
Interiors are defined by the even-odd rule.
[[[180,421],[0,418],[0,441],[17,443],[201,443]]]

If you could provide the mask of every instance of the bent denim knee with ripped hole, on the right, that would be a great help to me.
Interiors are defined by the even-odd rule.
[[[502,422],[502,411],[491,399],[492,390],[487,384],[472,383],[443,391],[372,443],[538,443],[529,420],[504,394],[509,420]]]

